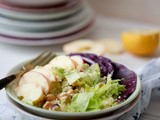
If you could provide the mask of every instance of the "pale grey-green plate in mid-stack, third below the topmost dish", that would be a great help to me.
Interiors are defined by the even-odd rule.
[[[0,26],[5,29],[12,30],[22,30],[22,31],[45,31],[53,30],[58,27],[65,26],[68,24],[74,24],[78,21],[82,21],[87,15],[92,14],[91,9],[85,7],[79,13],[72,15],[71,17],[62,19],[62,20],[52,20],[52,21],[21,21],[15,19],[9,19],[3,16],[0,16]]]

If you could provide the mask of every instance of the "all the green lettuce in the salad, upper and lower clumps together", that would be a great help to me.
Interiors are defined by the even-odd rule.
[[[83,92],[73,95],[70,104],[67,105],[68,112],[95,111],[103,108],[112,107],[117,104],[120,93],[125,91],[122,79],[112,80],[111,74],[101,78],[99,64],[84,64],[81,71],[65,70],[63,68],[53,68],[53,73],[64,79],[69,85],[76,82],[83,87]]]

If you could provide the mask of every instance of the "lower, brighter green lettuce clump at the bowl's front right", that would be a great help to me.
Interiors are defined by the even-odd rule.
[[[116,105],[116,98],[125,90],[124,85],[120,85],[118,81],[120,80],[112,80],[109,74],[107,83],[97,84],[92,87],[85,84],[85,92],[78,93],[73,97],[67,111],[94,111]]]

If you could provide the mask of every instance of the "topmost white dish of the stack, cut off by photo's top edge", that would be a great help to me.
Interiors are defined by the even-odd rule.
[[[18,5],[18,6],[26,6],[26,7],[39,7],[39,6],[50,6],[55,4],[60,4],[65,2],[66,0],[2,0],[8,4]]]

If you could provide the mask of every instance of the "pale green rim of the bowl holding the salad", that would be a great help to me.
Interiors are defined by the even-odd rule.
[[[13,74],[15,72],[15,69],[18,69],[20,68],[25,62],[22,62],[22,63],[19,63],[18,65],[14,66],[9,72],[7,75],[10,75],[10,74]],[[121,64],[121,63],[120,63]],[[126,66],[127,67],[127,66]],[[129,67],[127,67],[129,68]],[[129,68],[130,69],[130,68]],[[14,81],[13,81],[14,82]],[[112,112],[116,109],[119,109],[125,105],[127,105],[128,103],[132,102],[140,93],[140,90],[141,90],[141,82],[140,82],[140,79],[139,77],[137,76],[137,83],[136,83],[136,89],[135,91],[125,100],[123,101],[122,103],[120,104],[117,104],[116,106],[113,106],[113,107],[109,107],[109,108],[106,108],[106,109],[102,109],[102,110],[98,110],[98,111],[88,111],[88,112],[60,112],[60,111],[49,111],[49,110],[44,110],[42,108],[38,108],[38,107],[35,107],[35,106],[31,106],[29,104],[26,104],[24,102],[22,102],[21,100],[19,100],[13,89],[12,89],[13,86],[11,86],[11,84],[9,84],[8,86],[5,87],[5,90],[6,90],[6,93],[7,95],[12,99],[14,100],[16,103],[22,105],[23,107],[27,108],[27,109],[30,109],[30,110],[34,110],[36,112],[39,112],[39,113],[44,113],[44,114],[47,114],[47,115],[56,115],[56,116],[65,116],[65,117],[77,117],[77,116],[91,116],[91,115],[100,115],[100,114],[105,114],[105,113],[109,113],[109,112]]]

